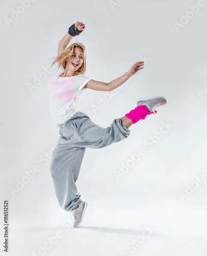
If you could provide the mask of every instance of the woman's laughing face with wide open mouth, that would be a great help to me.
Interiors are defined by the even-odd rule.
[[[84,61],[84,51],[80,47],[74,47],[73,48],[73,54],[72,56],[68,59],[68,67],[72,71],[76,71],[79,68],[81,68],[83,61]],[[74,63],[74,64],[73,64]],[[76,65],[77,64],[77,65]]]

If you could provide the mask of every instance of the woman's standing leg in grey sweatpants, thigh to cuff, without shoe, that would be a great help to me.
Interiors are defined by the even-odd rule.
[[[50,173],[58,202],[66,211],[71,211],[81,202],[75,182],[85,151],[84,147],[71,147],[70,142],[61,136],[53,152]]]

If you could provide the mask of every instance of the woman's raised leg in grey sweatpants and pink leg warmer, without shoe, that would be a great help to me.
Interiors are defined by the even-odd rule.
[[[150,114],[146,106],[139,105],[104,128],[92,122],[85,113],[78,112],[63,123],[61,134],[69,140],[70,146],[102,148],[127,138],[131,133],[128,127]]]

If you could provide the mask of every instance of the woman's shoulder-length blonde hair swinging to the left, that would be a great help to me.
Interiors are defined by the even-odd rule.
[[[75,75],[79,75],[79,74],[85,75],[85,73],[86,73],[86,48],[84,45],[81,44],[81,42],[74,42],[74,44],[70,45],[63,53],[54,57],[56,59],[53,61],[53,63],[51,63],[51,68],[53,67],[53,65],[55,65],[55,63],[58,63],[58,69],[60,69],[60,67],[63,67],[65,69],[68,58],[70,58],[73,54],[74,47],[80,47],[84,52],[82,66],[78,70],[75,71]],[[52,58],[52,59],[54,59],[54,58]]]

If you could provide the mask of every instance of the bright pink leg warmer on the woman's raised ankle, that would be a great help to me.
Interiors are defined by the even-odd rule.
[[[156,110],[154,110],[157,113]],[[130,118],[133,123],[138,122],[139,120],[144,120],[147,115],[155,114],[151,113],[145,105],[136,106],[134,110],[131,110],[129,113],[125,114],[127,118]]]

